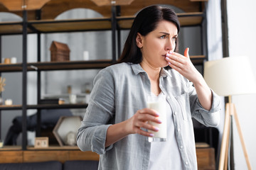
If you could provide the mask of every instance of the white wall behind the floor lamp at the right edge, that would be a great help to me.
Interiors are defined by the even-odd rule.
[[[256,1],[228,0],[228,40],[230,57],[250,57],[256,75]],[[238,68],[239,69],[239,68]],[[256,78],[256,77],[255,77]],[[255,87],[256,88],[256,87]],[[256,94],[233,96],[252,169],[256,169]],[[234,126],[235,169],[247,169],[236,126]]]

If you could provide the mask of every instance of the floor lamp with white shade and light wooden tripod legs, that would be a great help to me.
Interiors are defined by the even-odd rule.
[[[235,109],[235,104],[231,102],[231,96],[240,94],[256,93],[255,76],[250,67],[249,58],[240,57],[224,57],[221,60],[213,60],[205,63],[204,78],[208,86],[210,86],[216,94],[220,96],[228,96],[228,103],[225,106],[225,123],[223,130],[223,139],[220,147],[219,170],[227,169],[228,166],[228,148],[230,146],[230,131],[233,126],[230,121],[235,118],[235,125],[238,128],[242,150],[248,169],[252,169],[245,148],[245,142],[242,137],[242,130]]]

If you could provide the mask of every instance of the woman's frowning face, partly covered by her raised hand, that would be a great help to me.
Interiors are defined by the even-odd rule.
[[[177,37],[178,29],[170,21],[160,21],[156,29],[146,36],[138,33],[137,46],[142,50],[142,62],[151,67],[166,67],[166,53],[174,51]]]

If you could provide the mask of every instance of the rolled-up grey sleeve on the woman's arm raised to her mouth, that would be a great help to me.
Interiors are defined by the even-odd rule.
[[[201,106],[196,94],[196,89],[193,87],[192,83],[189,83],[188,89],[192,117],[203,125],[211,127],[218,126],[220,123],[220,97],[210,89],[213,95],[213,101],[210,111],[208,111]]]

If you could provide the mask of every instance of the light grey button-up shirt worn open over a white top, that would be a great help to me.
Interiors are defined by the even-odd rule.
[[[197,169],[191,118],[206,126],[218,125],[220,98],[212,92],[212,107],[207,111],[199,103],[191,82],[174,69],[161,69],[159,86],[173,112],[183,169]],[[147,137],[128,135],[107,148],[105,140],[110,125],[127,120],[139,109],[146,108],[146,96],[150,93],[149,77],[140,64],[114,64],[97,74],[77,140],[82,151],[100,154],[99,169],[148,169],[151,143]]]

